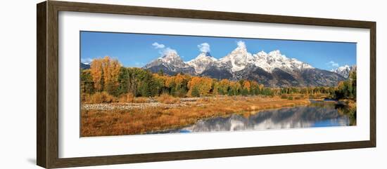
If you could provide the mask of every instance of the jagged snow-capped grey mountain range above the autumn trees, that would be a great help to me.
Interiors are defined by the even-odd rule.
[[[175,75],[177,73],[195,76],[209,76],[214,79],[255,80],[269,87],[291,86],[336,86],[348,78],[345,70],[327,71],[287,58],[279,50],[269,53],[248,53],[246,46],[238,46],[223,58],[213,58],[202,52],[194,60],[184,62],[175,50],[170,50],[160,58],[143,67],[151,72]]]

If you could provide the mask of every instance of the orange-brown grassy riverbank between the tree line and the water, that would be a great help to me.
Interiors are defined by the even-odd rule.
[[[201,119],[310,104],[308,99],[233,96],[184,98],[174,102],[82,104],[81,136],[136,135],[181,128]]]

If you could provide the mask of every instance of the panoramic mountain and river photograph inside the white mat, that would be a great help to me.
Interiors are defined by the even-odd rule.
[[[356,126],[356,43],[80,32],[80,137]]]

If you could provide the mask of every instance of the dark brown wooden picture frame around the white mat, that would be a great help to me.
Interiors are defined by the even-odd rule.
[[[369,140],[319,144],[296,144],[270,147],[176,151],[118,156],[77,158],[58,157],[58,12],[112,13],[172,18],[197,18],[244,22],[267,22],[292,25],[318,25],[369,29],[370,39],[370,109]],[[304,18],[281,15],[194,11],[172,8],[150,8],[108,4],[86,4],[66,1],[44,1],[37,4],[37,165],[44,168],[65,168],[87,165],[144,163],[196,158],[281,154],[303,151],[376,147],[376,22]]]

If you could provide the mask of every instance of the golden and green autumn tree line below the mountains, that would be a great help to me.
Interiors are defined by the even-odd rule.
[[[267,88],[257,81],[211,79],[208,77],[176,74],[169,76],[162,70],[157,74],[136,67],[122,67],[118,60],[105,57],[94,59],[90,69],[81,71],[81,92],[106,92],[118,97],[131,93],[136,97],[154,97],[168,94],[175,97],[201,97],[209,95],[331,95],[335,99],[356,97],[356,74],[337,87]]]

